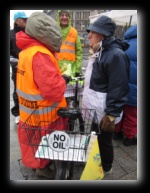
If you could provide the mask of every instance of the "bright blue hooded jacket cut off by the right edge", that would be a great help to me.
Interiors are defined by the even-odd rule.
[[[127,104],[137,106],[137,25],[130,27],[124,34],[130,47],[126,50],[126,54],[130,59],[130,78],[129,78],[129,94]]]

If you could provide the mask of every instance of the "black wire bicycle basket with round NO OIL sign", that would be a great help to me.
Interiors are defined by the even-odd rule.
[[[41,159],[85,162],[92,122],[97,119],[96,111],[67,108],[67,117],[63,117],[61,113],[64,112],[61,111],[52,122],[48,121],[47,114],[44,114],[50,108],[53,107],[45,107],[43,116],[39,115],[39,118],[38,110],[34,110],[22,125],[34,156]],[[55,111],[60,109],[62,108],[55,108]],[[39,113],[41,114],[41,110]],[[74,115],[74,119],[70,121],[69,113],[78,114],[80,117]]]

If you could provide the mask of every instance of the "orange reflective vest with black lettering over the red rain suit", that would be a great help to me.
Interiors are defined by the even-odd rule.
[[[17,93],[19,99],[20,119],[25,122],[33,110],[37,108],[38,110],[35,111],[34,120],[32,122],[33,125],[37,124],[35,120],[39,121],[39,118],[43,116],[45,121],[46,119],[50,122],[55,121],[58,116],[53,108],[66,106],[66,100],[64,97],[62,102],[59,103],[54,102],[55,99],[53,101],[45,100],[40,94],[40,91],[34,82],[32,70],[32,58],[37,51],[48,54],[60,73],[56,58],[46,47],[32,46],[20,52],[17,69]],[[47,108],[48,111],[44,111],[44,106],[52,106],[53,108]]]

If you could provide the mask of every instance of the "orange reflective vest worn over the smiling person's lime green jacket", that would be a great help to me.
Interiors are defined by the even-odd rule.
[[[68,36],[65,41],[62,42],[60,52],[58,53],[58,60],[70,60],[75,61],[75,42],[77,39],[77,31],[73,27],[70,28]]]

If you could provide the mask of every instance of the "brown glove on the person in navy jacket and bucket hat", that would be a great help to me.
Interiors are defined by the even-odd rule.
[[[106,132],[114,132],[115,130],[115,117],[105,115],[100,122],[100,130]]]

